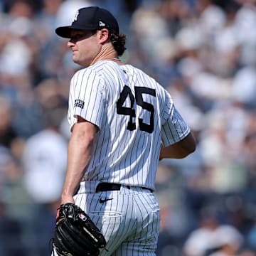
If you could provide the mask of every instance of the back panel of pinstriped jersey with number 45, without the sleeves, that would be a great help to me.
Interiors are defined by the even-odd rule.
[[[105,81],[107,109],[91,171],[101,181],[154,188],[164,90],[132,65],[108,61],[97,73]]]

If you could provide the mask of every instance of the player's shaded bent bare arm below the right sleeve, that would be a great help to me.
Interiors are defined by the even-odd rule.
[[[196,150],[196,140],[190,133],[186,138],[171,146],[161,147],[159,159],[182,159]]]

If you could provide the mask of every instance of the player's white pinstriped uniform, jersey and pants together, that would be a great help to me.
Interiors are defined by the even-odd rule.
[[[160,216],[152,191],[161,144],[186,137],[188,125],[164,87],[142,70],[111,60],[73,76],[70,127],[78,116],[99,127],[75,203],[105,235],[108,252],[100,255],[155,255]],[[121,186],[96,191],[99,183]]]

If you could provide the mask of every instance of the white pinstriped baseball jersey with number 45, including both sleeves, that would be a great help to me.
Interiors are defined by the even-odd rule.
[[[161,143],[169,146],[190,132],[164,87],[142,70],[110,60],[73,76],[70,127],[78,116],[99,127],[86,181],[154,190]]]

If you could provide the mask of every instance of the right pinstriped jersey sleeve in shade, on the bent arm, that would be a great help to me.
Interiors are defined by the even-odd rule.
[[[164,146],[170,146],[184,139],[191,130],[181,117],[181,114],[176,110],[168,93],[165,107],[164,124],[161,127],[161,142]]]

